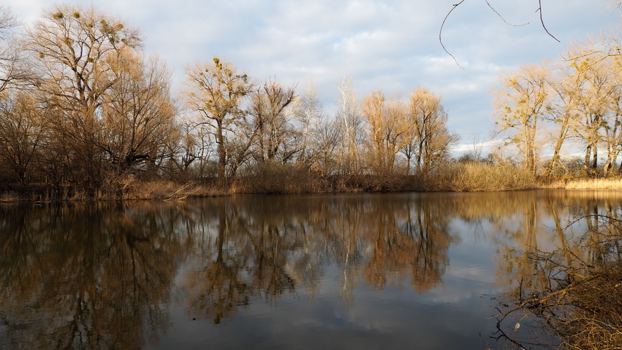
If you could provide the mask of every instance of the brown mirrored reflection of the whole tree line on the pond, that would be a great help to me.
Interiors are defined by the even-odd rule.
[[[465,239],[491,247],[490,293],[535,288],[546,281],[530,253],[576,244],[567,225],[603,223],[570,218],[620,202],[539,191],[0,207],[0,346],[158,344],[176,331],[177,305],[217,324],[284,295],[317,302],[338,290],[352,304],[361,288],[434,294]],[[338,279],[326,280],[329,269]]]

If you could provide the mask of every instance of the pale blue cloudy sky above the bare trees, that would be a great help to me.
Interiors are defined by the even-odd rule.
[[[573,43],[619,30],[621,11],[607,0],[3,0],[29,27],[55,3],[95,6],[138,27],[144,50],[173,73],[217,56],[261,82],[275,77],[303,90],[311,80],[332,113],[345,76],[360,99],[373,90],[406,96],[417,86],[441,95],[457,150],[490,138],[499,76],[523,64],[555,60]],[[619,31],[618,31],[619,33]]]

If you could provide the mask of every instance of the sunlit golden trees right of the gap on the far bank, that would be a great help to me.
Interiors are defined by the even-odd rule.
[[[497,132],[505,146],[516,146],[526,169],[545,176],[621,172],[620,48],[616,36],[604,37],[502,77],[495,92]],[[562,155],[577,145],[583,156],[565,162]]]

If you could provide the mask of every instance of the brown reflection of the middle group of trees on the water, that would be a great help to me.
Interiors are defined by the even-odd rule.
[[[306,288],[312,298],[325,265],[343,270],[341,297],[352,302],[361,279],[375,289],[440,283],[452,241],[441,207],[382,196],[242,197],[198,204],[209,228],[186,272],[190,314],[231,316],[251,300],[275,304]]]

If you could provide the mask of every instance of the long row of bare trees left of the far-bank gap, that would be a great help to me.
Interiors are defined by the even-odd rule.
[[[457,141],[441,97],[416,87],[362,102],[344,79],[326,113],[302,92],[257,82],[219,57],[186,69],[170,91],[143,38],[97,8],[56,6],[20,30],[0,12],[0,177],[13,188],[122,191],[128,181],[230,185],[254,169],[291,166],[319,177],[431,172]]]

